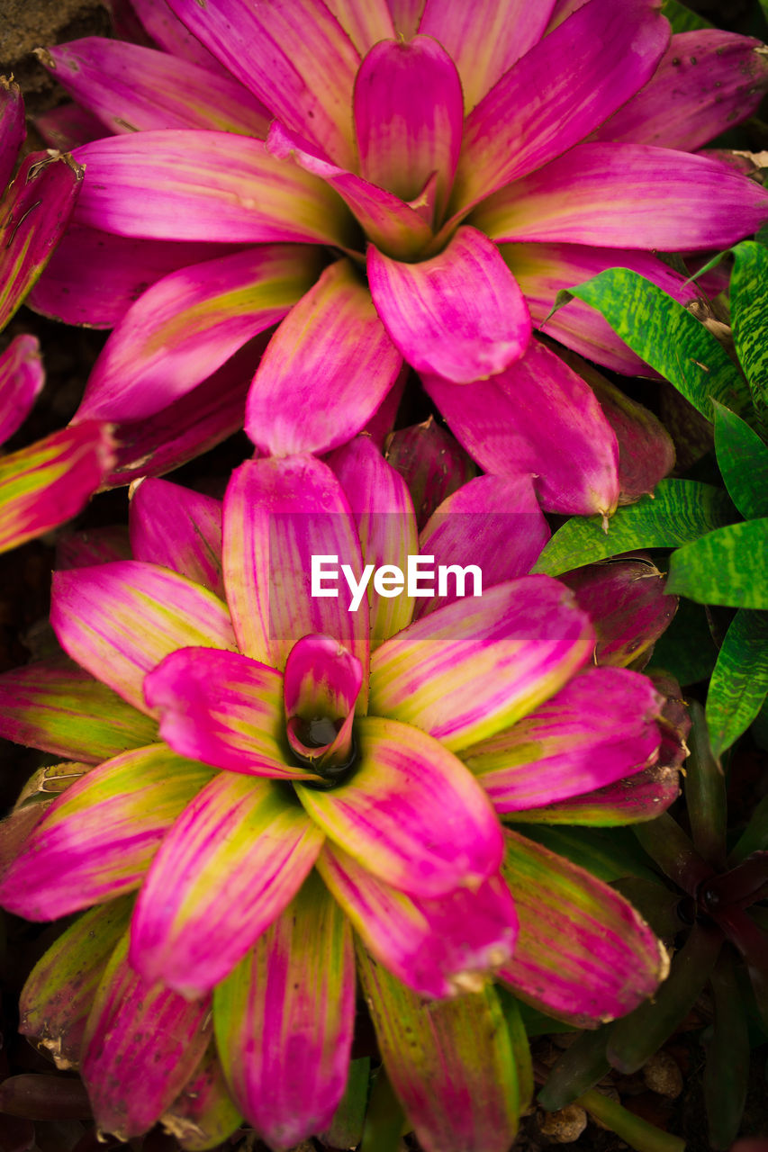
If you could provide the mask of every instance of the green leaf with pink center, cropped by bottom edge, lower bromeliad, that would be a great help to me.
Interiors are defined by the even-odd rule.
[[[426,1005],[363,948],[357,970],[384,1067],[424,1152],[506,1152],[520,1098],[494,990]]]

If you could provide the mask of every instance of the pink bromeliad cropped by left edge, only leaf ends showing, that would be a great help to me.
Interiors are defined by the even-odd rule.
[[[82,188],[82,168],[54,151],[28,156],[9,183],[25,134],[21,91],[2,76],[0,331],[43,272]],[[37,340],[16,336],[0,354],[0,445],[24,423],[44,382]],[[0,552],[78,513],[114,461],[108,429],[91,419],[0,456]]]

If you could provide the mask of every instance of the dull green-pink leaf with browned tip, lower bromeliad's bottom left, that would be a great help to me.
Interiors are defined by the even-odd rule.
[[[22,990],[18,1030],[47,1048],[60,1068],[77,1067],[93,994],[126,932],[133,900],[92,908],[37,962]]]

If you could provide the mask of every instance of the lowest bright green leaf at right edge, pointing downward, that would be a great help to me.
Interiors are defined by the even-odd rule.
[[[725,634],[707,696],[707,726],[715,756],[746,732],[767,695],[768,614],[741,608]]]

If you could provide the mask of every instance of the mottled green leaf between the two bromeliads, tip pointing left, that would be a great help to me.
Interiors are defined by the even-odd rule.
[[[618,508],[608,531],[600,516],[573,516],[551,538],[532,571],[560,573],[635,548],[673,548],[735,518],[724,492],[697,480],[662,480],[654,497]]]

